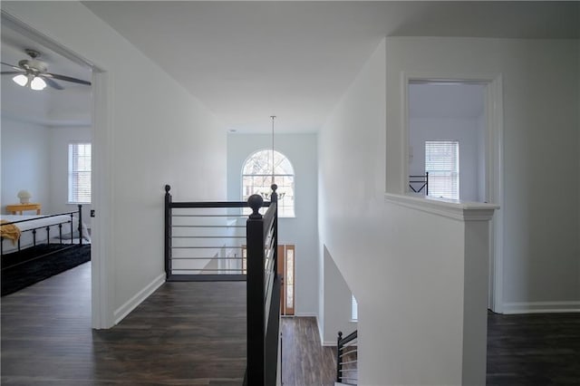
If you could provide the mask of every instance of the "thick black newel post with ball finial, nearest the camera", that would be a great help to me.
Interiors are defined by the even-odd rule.
[[[252,214],[247,219],[247,384],[263,386],[264,355],[264,219],[258,212],[264,200],[259,195],[247,198]]]

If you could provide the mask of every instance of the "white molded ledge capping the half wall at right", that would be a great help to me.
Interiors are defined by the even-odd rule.
[[[384,199],[401,207],[410,207],[411,209],[460,221],[489,221],[493,217],[494,211],[499,208],[496,204],[394,193],[385,193]]]

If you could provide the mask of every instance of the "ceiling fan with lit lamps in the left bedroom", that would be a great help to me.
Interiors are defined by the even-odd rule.
[[[18,65],[8,64],[0,62],[4,65],[12,67],[16,71],[1,72],[2,75],[14,75],[12,80],[17,84],[27,87],[31,90],[41,91],[44,90],[46,85],[51,86],[56,90],[63,90],[63,86],[59,83],[54,82],[55,79],[64,82],[73,82],[79,84],[85,84],[90,86],[91,82],[83,81],[82,79],[71,78],[70,76],[59,75],[58,73],[47,72],[46,63],[36,59],[40,56],[40,53],[35,50],[25,49],[25,53],[31,57],[31,59],[23,59],[18,62]]]

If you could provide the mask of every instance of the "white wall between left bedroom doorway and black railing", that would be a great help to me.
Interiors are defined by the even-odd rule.
[[[82,4],[3,2],[2,8],[104,72],[93,84],[95,100],[109,109],[93,132],[101,168],[93,236],[108,236],[94,247],[109,265],[92,264],[110,280],[102,282],[102,303],[93,303],[103,319],[93,323],[110,326],[163,281],[163,186],[173,187],[176,200],[226,197],[226,130]]]

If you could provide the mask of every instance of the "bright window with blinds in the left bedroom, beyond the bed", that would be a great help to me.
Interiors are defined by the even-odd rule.
[[[69,203],[91,202],[91,144],[69,143]]]

